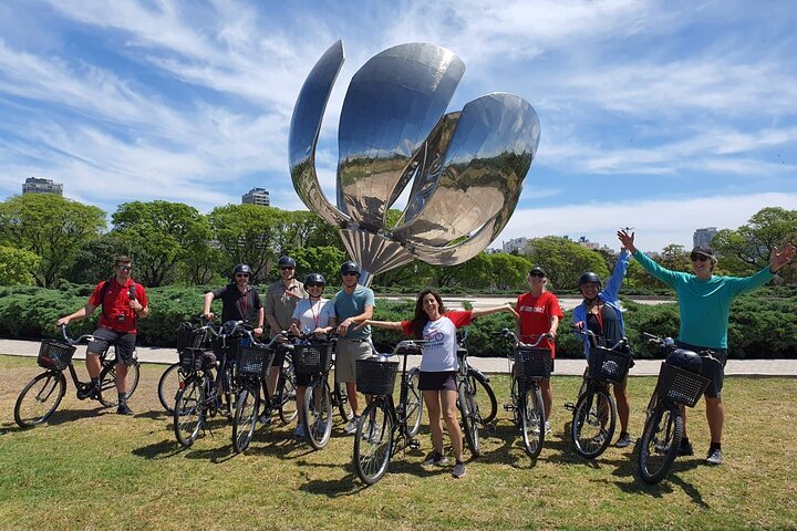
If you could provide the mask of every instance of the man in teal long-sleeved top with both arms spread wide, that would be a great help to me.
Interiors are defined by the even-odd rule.
[[[714,275],[717,259],[707,247],[696,247],[690,253],[694,274],[671,271],[644,256],[634,246],[634,233],[625,230],[618,232],[622,246],[628,249],[636,261],[654,278],[661,280],[673,290],[679,300],[681,327],[676,344],[681,348],[701,352],[711,350],[714,357],[722,362],[703,363],[702,375],[711,381],[705,392],[706,419],[711,431],[711,446],[706,456],[708,465],[720,465],[722,455],[722,431],[725,421],[725,406],[722,400],[722,387],[727,361],[727,329],[731,303],[743,293],[766,284],[775,273],[786,266],[795,256],[795,246],[788,243],[783,251],[775,248],[769,266],[756,274],[745,278]],[[686,437],[686,412],[684,412],[684,430],[681,439],[680,455],[694,455],[694,449]]]

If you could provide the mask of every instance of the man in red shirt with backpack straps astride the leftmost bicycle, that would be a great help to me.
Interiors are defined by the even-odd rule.
[[[92,334],[94,341],[86,348],[86,369],[91,376],[87,388],[77,392],[77,398],[93,398],[100,388],[100,355],[111,345],[116,346],[116,392],[118,393],[120,415],[133,415],[127,407],[127,365],[133,361],[135,351],[136,322],[138,317],[149,315],[144,287],[131,278],[133,262],[125,256],[116,257],[114,277],[103,280],[89,298],[89,303],[71,315],[59,319],[58,324],[80,321],[102,306],[100,323]]]

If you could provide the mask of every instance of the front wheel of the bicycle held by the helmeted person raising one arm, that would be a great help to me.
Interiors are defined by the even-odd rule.
[[[576,451],[594,459],[609,447],[617,424],[617,407],[605,389],[589,391],[576,404],[570,433]]]

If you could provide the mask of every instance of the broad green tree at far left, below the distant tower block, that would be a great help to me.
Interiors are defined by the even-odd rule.
[[[0,243],[39,256],[32,271],[43,287],[55,283],[77,251],[105,228],[97,207],[55,194],[23,194],[0,202]]]

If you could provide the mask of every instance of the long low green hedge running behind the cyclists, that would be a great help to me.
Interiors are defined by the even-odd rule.
[[[66,284],[58,290],[35,287],[0,288],[0,335],[6,337],[55,337],[55,321],[83,306],[93,287]],[[203,309],[206,287],[166,287],[147,290],[152,316],[139,321],[138,342],[142,345],[174,346],[175,330],[183,321],[193,321]],[[736,300],[731,309],[728,350],[734,358],[787,357],[797,358],[797,295],[794,291],[754,292]],[[444,298],[445,300],[445,298]],[[218,303],[216,303],[218,304]],[[646,305],[623,299],[625,332],[639,358],[656,357],[655,348],[642,341],[641,333],[675,336],[679,329],[677,304]],[[216,308],[216,306],[215,306]],[[402,321],[411,319],[414,303],[380,299],[374,319]],[[99,312],[90,322],[70,326],[77,335],[90,333]],[[557,339],[558,357],[581,357],[581,343],[569,333],[572,313],[566,312]],[[513,319],[498,313],[476,320],[470,327],[467,346],[476,356],[504,356],[508,345],[491,334],[501,327],[513,329]],[[395,343],[400,334],[374,329],[374,342]]]

